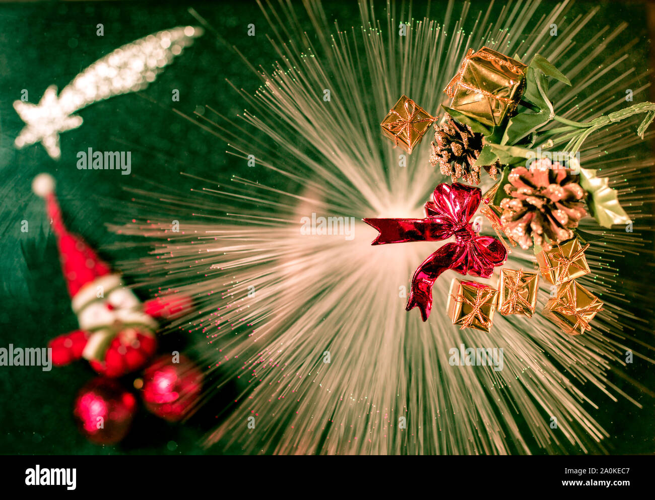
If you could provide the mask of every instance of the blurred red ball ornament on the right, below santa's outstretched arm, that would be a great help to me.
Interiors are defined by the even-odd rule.
[[[163,356],[143,372],[141,395],[147,410],[176,422],[189,414],[202,391],[202,372],[186,357]]]

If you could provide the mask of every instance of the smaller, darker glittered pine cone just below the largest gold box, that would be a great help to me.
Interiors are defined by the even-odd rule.
[[[453,182],[460,177],[471,184],[479,184],[480,167],[474,165],[482,149],[482,134],[473,132],[468,125],[453,120],[448,113],[442,125],[434,124],[434,142],[430,164],[440,166],[443,175],[450,175]],[[496,179],[500,164],[483,168]]]

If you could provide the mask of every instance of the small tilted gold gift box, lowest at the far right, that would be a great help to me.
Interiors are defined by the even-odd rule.
[[[563,327],[569,335],[580,335],[591,330],[589,321],[603,310],[603,302],[588,289],[567,281],[557,287],[557,293],[548,300],[544,314]]]

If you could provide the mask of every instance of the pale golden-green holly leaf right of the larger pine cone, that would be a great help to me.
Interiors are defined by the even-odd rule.
[[[596,222],[605,228],[630,222],[618,202],[616,190],[608,186],[608,177],[597,177],[597,170],[580,168],[580,186],[587,192],[587,207]]]

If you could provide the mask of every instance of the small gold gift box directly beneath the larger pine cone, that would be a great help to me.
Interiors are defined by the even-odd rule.
[[[563,241],[552,249],[542,250],[536,255],[536,261],[542,276],[553,285],[561,285],[566,281],[584,276],[589,272],[589,264],[584,257],[584,251],[589,245],[580,244],[580,240]]]

